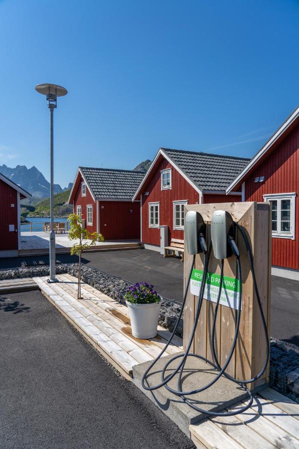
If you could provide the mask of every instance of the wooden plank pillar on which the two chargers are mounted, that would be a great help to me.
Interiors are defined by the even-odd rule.
[[[256,279],[260,292],[261,302],[270,333],[270,305],[271,305],[271,216],[270,205],[267,203],[219,203],[203,205],[186,205],[187,211],[198,211],[205,223],[207,223],[207,244],[210,244],[210,222],[214,211],[224,210],[231,214],[233,220],[243,226],[248,240],[251,244]],[[226,370],[237,379],[250,379],[261,370],[266,354],[266,343],[259,313],[258,302],[254,291],[252,273],[250,270],[248,255],[240,233],[237,233],[237,245],[240,250],[240,261],[242,266],[243,280],[243,305],[239,337],[235,353]],[[186,243],[185,243],[186,248]],[[184,283],[192,263],[192,256],[185,251]],[[202,270],[203,257],[196,256],[195,268]],[[209,272],[220,273],[220,261],[215,259],[213,251],[209,263]],[[236,278],[237,264],[235,256],[224,261],[224,275]],[[184,308],[184,347],[189,340],[192,325],[194,323],[194,310],[197,297],[190,293],[187,295]],[[211,355],[211,331],[215,311],[215,303],[204,299],[201,317],[199,319],[193,347],[195,354],[212,360]],[[220,305],[216,322],[215,349],[221,366],[224,365],[230,352],[236,322],[237,311],[225,305]],[[269,382],[269,366],[254,385],[248,387],[253,389],[259,385]]]

